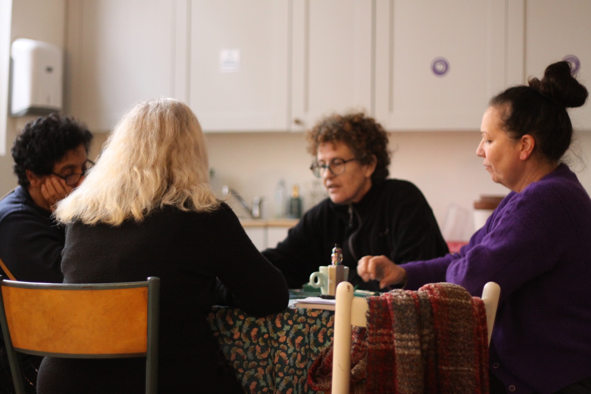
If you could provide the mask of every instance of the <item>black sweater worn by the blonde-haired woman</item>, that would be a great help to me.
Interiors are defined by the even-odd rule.
[[[70,224],[61,269],[64,283],[160,278],[160,393],[215,393],[227,383],[216,382],[219,346],[205,320],[212,305],[233,298],[262,317],[284,310],[289,298],[281,272],[256,250],[224,203],[213,213],[167,207],[118,227]],[[144,368],[143,357],[46,357],[38,393],[141,393]]]

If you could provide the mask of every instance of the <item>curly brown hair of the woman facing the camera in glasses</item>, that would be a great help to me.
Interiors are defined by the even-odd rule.
[[[308,152],[316,155],[318,147],[326,142],[343,142],[361,164],[372,164],[377,159],[375,171],[371,175],[372,183],[382,183],[388,178],[390,151],[388,151],[388,135],[374,118],[364,113],[347,115],[330,115],[306,133]]]

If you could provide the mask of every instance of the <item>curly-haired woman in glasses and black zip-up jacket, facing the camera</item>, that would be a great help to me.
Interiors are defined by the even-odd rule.
[[[373,291],[387,286],[364,282],[355,269],[360,259],[403,264],[447,253],[421,191],[408,181],[387,179],[388,136],[379,123],[362,113],[332,115],[307,138],[315,157],[310,169],[322,178],[329,198],[304,214],[277,248],[263,252],[290,288],[330,265],[336,243],[350,268],[349,282]]]

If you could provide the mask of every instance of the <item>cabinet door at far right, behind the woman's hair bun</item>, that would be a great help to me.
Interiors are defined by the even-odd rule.
[[[568,58],[591,90],[591,2],[536,0],[525,9],[525,76],[541,79],[549,64]],[[589,100],[570,115],[575,129],[591,130]]]

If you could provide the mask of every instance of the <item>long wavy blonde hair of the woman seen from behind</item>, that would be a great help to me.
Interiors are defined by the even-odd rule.
[[[209,187],[207,148],[191,109],[174,99],[135,105],[113,129],[95,167],[57,205],[60,223],[118,226],[154,209],[219,207]]]

